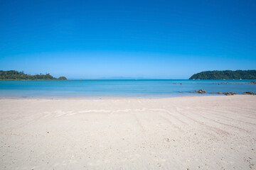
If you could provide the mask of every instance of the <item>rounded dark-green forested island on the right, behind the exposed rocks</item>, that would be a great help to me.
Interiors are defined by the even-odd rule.
[[[256,79],[256,70],[206,71],[193,74],[189,79]]]

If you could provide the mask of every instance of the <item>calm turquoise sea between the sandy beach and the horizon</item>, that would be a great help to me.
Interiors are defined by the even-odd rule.
[[[0,97],[161,98],[196,96],[189,91],[256,92],[255,80],[35,80],[0,81]],[[228,82],[228,84],[219,84]],[[177,83],[177,84],[174,84]],[[196,83],[196,84],[192,84]],[[182,85],[181,85],[182,84]],[[180,93],[179,91],[182,91]]]

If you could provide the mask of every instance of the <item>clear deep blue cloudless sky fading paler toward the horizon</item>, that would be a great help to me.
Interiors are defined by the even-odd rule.
[[[188,79],[255,65],[255,0],[0,0],[0,70]]]

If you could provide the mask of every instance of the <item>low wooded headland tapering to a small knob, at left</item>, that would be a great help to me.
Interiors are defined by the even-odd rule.
[[[29,75],[23,72],[18,72],[15,70],[3,71],[0,70],[0,80],[66,80],[65,77],[59,77],[58,79],[52,77],[50,74],[36,74]]]

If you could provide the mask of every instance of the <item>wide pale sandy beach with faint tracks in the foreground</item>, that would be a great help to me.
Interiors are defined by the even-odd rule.
[[[0,169],[256,169],[256,96],[0,100]]]

